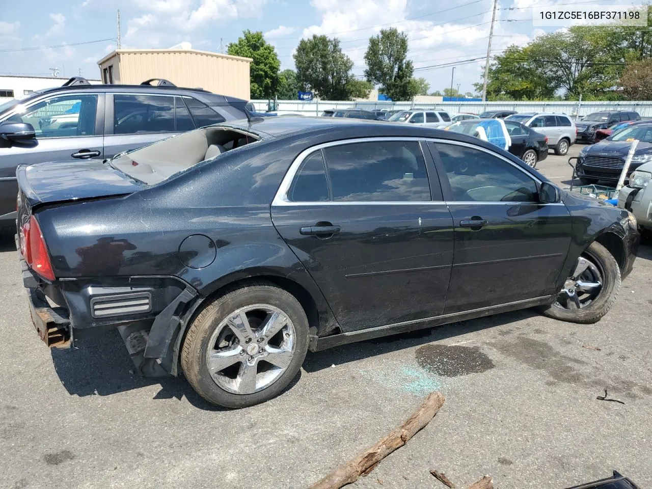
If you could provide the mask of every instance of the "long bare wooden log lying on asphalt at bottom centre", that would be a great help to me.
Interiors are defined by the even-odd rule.
[[[430,393],[421,406],[406,421],[394,428],[389,435],[373,447],[360,452],[346,464],[310,486],[310,489],[339,489],[357,481],[361,474],[368,474],[387,455],[399,449],[437,414],[444,404],[445,397],[440,393]]]

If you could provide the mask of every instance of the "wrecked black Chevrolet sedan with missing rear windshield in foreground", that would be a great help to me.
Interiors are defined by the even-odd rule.
[[[18,182],[42,339],[117,328],[141,374],[229,407],[282,392],[308,349],[531,306],[598,321],[638,246],[627,211],[408,124],[225,123]]]

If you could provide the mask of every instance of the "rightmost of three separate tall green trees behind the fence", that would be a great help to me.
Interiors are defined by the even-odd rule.
[[[364,54],[367,68],[364,75],[368,82],[380,85],[380,90],[392,100],[412,100],[417,86],[412,81],[412,61],[406,60],[408,35],[398,29],[381,29],[369,38]]]

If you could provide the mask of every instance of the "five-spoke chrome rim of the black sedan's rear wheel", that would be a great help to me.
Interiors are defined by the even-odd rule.
[[[294,356],[296,333],[278,307],[253,304],[235,310],[211,335],[206,366],[213,381],[234,394],[272,385]]]

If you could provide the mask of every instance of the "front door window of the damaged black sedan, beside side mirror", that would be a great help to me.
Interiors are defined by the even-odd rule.
[[[467,146],[434,143],[451,183],[452,200],[536,202],[537,184],[497,156]]]

